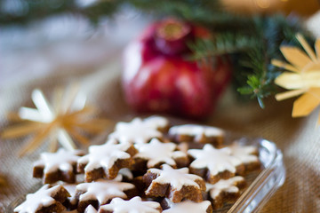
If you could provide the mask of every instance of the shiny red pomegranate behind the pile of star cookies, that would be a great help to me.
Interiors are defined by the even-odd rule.
[[[231,76],[227,58],[192,61],[188,42],[210,36],[179,20],[148,27],[124,51],[125,99],[138,112],[202,118],[212,112]]]

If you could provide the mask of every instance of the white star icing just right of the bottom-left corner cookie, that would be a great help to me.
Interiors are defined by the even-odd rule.
[[[99,179],[96,182],[76,185],[77,192],[84,192],[80,195],[79,201],[97,200],[101,205],[115,197],[126,198],[124,191],[133,189],[135,186],[119,181],[121,176],[113,180]]]

